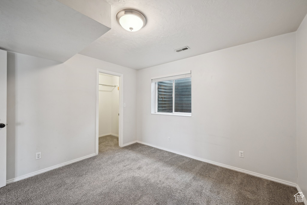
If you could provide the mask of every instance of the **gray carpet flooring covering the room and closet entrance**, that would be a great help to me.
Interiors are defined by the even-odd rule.
[[[100,137],[99,155],[0,188],[0,204],[297,204],[296,188],[142,144]]]

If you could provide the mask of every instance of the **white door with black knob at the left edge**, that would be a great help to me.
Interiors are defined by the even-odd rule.
[[[6,185],[6,61],[6,51],[0,50],[0,187]]]

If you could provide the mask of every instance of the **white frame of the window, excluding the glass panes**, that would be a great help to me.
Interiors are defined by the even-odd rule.
[[[158,79],[158,78],[164,78],[164,77],[170,77],[170,76],[176,76],[176,75],[184,75],[184,74],[188,74],[188,73],[191,73],[191,71],[177,73],[177,74],[173,74],[173,75],[153,77],[152,79]],[[187,77],[187,78],[192,79],[192,76]],[[182,78],[182,79],[185,79],[185,78]],[[154,103],[155,110],[151,114],[173,115],[173,116],[184,116],[184,117],[191,117],[192,116],[192,112],[191,113],[175,112],[175,79],[173,79],[173,112],[172,113],[158,112],[158,86],[157,86],[157,84],[158,84],[157,82],[154,83],[154,100],[152,99],[152,103]],[[192,84],[192,81],[191,81],[191,84]]]

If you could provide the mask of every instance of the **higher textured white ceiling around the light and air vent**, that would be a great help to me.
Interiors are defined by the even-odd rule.
[[[80,54],[142,69],[294,32],[307,13],[306,0],[107,0],[111,30]],[[116,14],[141,11],[147,25],[124,30]],[[175,53],[174,49],[191,49]]]

